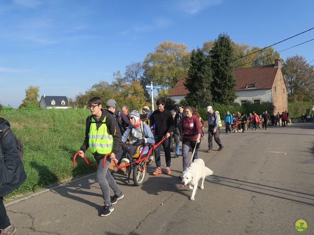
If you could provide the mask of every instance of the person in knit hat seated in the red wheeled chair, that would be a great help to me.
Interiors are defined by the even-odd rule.
[[[120,162],[119,166],[129,164],[132,160],[133,155],[136,153],[137,147],[144,145],[146,143],[154,143],[154,135],[151,131],[149,125],[147,125],[144,121],[140,120],[140,115],[136,110],[133,110],[129,114],[130,126],[124,132],[122,136],[122,148],[116,155],[117,163]],[[127,144],[125,144],[127,142]],[[122,159],[122,156],[125,155],[125,158]],[[109,170],[114,169],[114,163],[110,164]],[[122,167],[117,170],[118,174],[125,174],[126,167]]]

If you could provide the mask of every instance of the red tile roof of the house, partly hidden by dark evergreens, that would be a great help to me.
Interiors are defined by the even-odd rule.
[[[268,90],[272,88],[278,67],[274,65],[266,65],[252,68],[244,68],[234,70],[236,87],[238,91],[248,90]],[[184,81],[187,76],[180,78],[168,96],[186,95],[188,91],[185,89]],[[255,87],[248,87],[248,84],[254,84]]]

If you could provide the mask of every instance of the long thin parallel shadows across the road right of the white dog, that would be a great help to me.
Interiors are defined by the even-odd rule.
[[[309,193],[285,189],[285,188],[278,188],[278,187],[253,183],[249,181],[232,179],[232,178],[227,178],[227,177],[222,177],[222,176],[217,176],[217,175],[212,175],[211,178],[207,179],[206,181],[212,184],[217,184],[217,185],[226,186],[230,188],[236,188],[236,189],[240,189],[244,191],[254,192],[254,193],[262,194],[265,196],[280,198],[280,199],[288,200],[288,201],[303,204],[303,205],[314,206],[314,194],[309,194]],[[274,193],[274,194],[271,194],[271,193]],[[290,197],[296,197],[298,200],[290,198]],[[306,202],[305,200],[311,201],[313,203]]]

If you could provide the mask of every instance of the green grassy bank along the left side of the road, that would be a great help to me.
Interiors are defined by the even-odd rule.
[[[27,174],[26,182],[6,199],[96,170],[80,157],[76,167],[72,164],[84,141],[88,115],[90,112],[82,109],[1,110],[0,117],[10,122],[16,137],[24,143],[23,164]],[[86,157],[89,162],[95,162],[89,151]]]

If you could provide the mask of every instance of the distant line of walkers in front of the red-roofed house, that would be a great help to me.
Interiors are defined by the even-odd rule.
[[[236,132],[242,132],[250,130],[250,127],[252,125],[253,130],[257,130],[257,128],[263,128],[267,129],[268,126],[281,126],[285,127],[288,126],[288,117],[289,113],[287,110],[285,112],[282,112],[280,114],[279,112],[275,114],[274,112],[269,115],[267,111],[264,111],[262,115],[258,115],[256,112],[250,113],[247,115],[246,113],[240,113],[237,112],[236,114],[230,114],[229,111],[227,111],[224,122],[226,125],[226,133],[231,134],[232,131]]]

